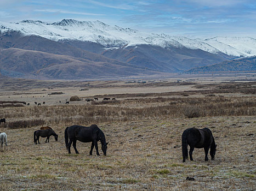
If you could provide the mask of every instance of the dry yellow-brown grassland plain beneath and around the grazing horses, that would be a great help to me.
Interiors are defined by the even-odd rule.
[[[180,86],[189,91],[151,92],[149,86],[133,93],[123,87],[122,94],[95,92],[95,102],[85,102],[93,97],[80,91],[83,100],[69,105],[58,100],[77,92],[67,94],[65,88],[59,89],[64,95],[50,97],[2,92],[4,101],[47,104],[0,107],[0,118],[7,120],[0,132],[8,136],[8,146],[0,148],[0,190],[255,190],[256,83]],[[68,154],[64,130],[73,124],[97,124],[110,142],[107,156],[100,151],[97,157],[95,150],[89,156],[90,143],[82,142],[80,154],[72,147]],[[33,143],[33,132],[43,125],[59,134],[57,142],[51,137],[47,144],[46,138]],[[182,163],[181,134],[190,127],[212,130],[214,161],[204,162],[203,149],[195,149],[194,162]]]

